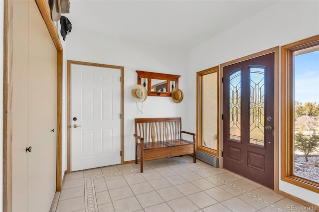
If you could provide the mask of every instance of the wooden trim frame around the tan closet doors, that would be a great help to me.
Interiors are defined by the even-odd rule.
[[[45,0],[35,0],[57,50],[57,138],[56,138],[56,191],[61,191],[62,168],[62,63],[63,48],[50,7]],[[12,211],[12,46],[13,6],[4,0],[3,24],[3,181],[2,211]]]

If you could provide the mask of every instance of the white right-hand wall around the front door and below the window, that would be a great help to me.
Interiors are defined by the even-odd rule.
[[[196,129],[196,72],[319,34],[319,1],[280,1],[189,51],[188,126]],[[188,93],[189,92],[189,93]],[[280,181],[279,189],[319,205],[319,194]]]

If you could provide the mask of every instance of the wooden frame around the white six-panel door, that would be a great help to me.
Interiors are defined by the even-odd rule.
[[[67,126],[67,173],[71,173],[71,64],[85,65],[85,66],[96,66],[103,68],[119,69],[121,71],[121,164],[124,164],[124,66],[107,65],[100,63],[90,63],[75,60],[67,60],[67,71],[66,71],[66,126]]]

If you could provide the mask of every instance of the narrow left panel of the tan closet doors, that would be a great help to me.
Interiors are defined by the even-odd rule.
[[[12,211],[27,208],[28,1],[12,1]]]

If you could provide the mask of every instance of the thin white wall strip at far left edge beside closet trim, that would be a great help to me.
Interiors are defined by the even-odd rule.
[[[3,44],[3,17],[4,17],[4,1],[0,0],[0,38],[1,38],[1,43]],[[3,47],[3,45],[2,45]],[[0,103],[3,103],[3,48],[0,51]],[[3,120],[3,106],[0,106],[0,120]],[[0,210],[2,210],[2,148],[3,148],[3,121],[0,121],[0,136],[1,136],[1,141],[0,141]]]

